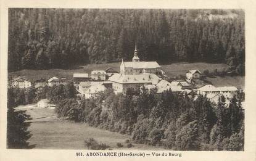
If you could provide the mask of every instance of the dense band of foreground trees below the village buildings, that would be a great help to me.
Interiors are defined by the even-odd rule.
[[[241,97],[233,97],[228,108],[224,102],[221,97],[215,107],[203,96],[191,101],[186,94],[171,91],[159,95],[130,89],[126,95],[115,95],[107,89],[90,99],[63,99],[56,113],[74,122],[129,134],[136,143],[178,151],[243,151]]]

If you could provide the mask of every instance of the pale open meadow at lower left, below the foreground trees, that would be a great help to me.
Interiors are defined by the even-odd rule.
[[[60,120],[33,122],[29,130],[33,134],[29,142],[30,145],[35,145],[35,149],[86,149],[84,141],[89,138],[94,138],[97,142],[107,144],[111,149],[120,149],[117,147],[117,142],[123,144],[124,147],[121,149],[128,149],[125,140],[130,139],[128,135],[93,128],[85,123],[72,123]],[[163,149],[144,144],[133,145],[130,149]]]

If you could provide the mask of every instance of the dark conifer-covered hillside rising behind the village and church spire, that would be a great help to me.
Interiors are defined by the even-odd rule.
[[[9,71],[131,60],[218,62],[244,74],[242,10],[9,9]]]

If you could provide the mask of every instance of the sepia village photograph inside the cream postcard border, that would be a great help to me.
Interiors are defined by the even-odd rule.
[[[245,33],[244,9],[10,7],[6,148],[244,152]]]

